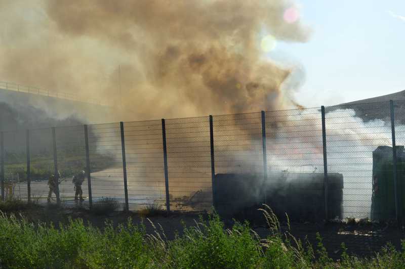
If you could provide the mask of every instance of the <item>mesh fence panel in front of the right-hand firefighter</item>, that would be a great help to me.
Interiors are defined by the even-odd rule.
[[[66,204],[71,204],[76,196],[80,198],[80,189],[83,191],[84,199],[88,198],[87,181],[81,186],[75,186],[72,177],[80,174],[80,171],[86,171],[86,145],[85,131],[83,125],[57,127],[56,152],[58,161],[58,170],[61,174],[59,179],[60,199]],[[87,176],[84,176],[87,179]],[[79,176],[80,178],[80,176]]]

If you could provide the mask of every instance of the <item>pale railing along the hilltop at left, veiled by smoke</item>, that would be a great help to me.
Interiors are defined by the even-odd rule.
[[[60,99],[65,99],[65,100],[84,102],[84,103],[90,103],[90,104],[102,105],[102,106],[114,106],[115,105],[112,102],[105,102],[105,101],[98,100],[98,99],[82,98],[77,94],[49,91],[48,89],[44,89],[44,88],[26,86],[26,85],[21,85],[18,83],[7,82],[7,81],[0,81],[0,89],[6,89],[8,91],[13,91],[13,92],[54,97],[54,98],[60,98]]]

